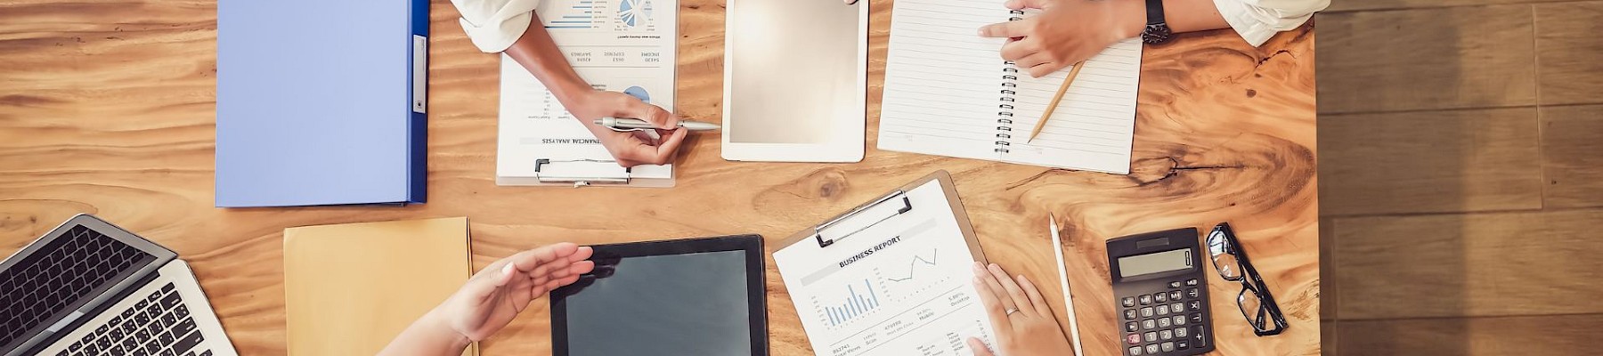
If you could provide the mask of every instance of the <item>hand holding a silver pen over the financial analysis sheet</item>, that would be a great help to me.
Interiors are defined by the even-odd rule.
[[[606,146],[606,151],[622,167],[670,164],[680,143],[689,133],[689,130],[678,128],[680,115],[617,91],[592,90],[567,106],[567,112],[583,122],[585,128],[601,141],[601,146]],[[601,117],[633,117],[651,122],[657,127],[657,138],[646,131],[614,131],[596,125],[595,120]]]

